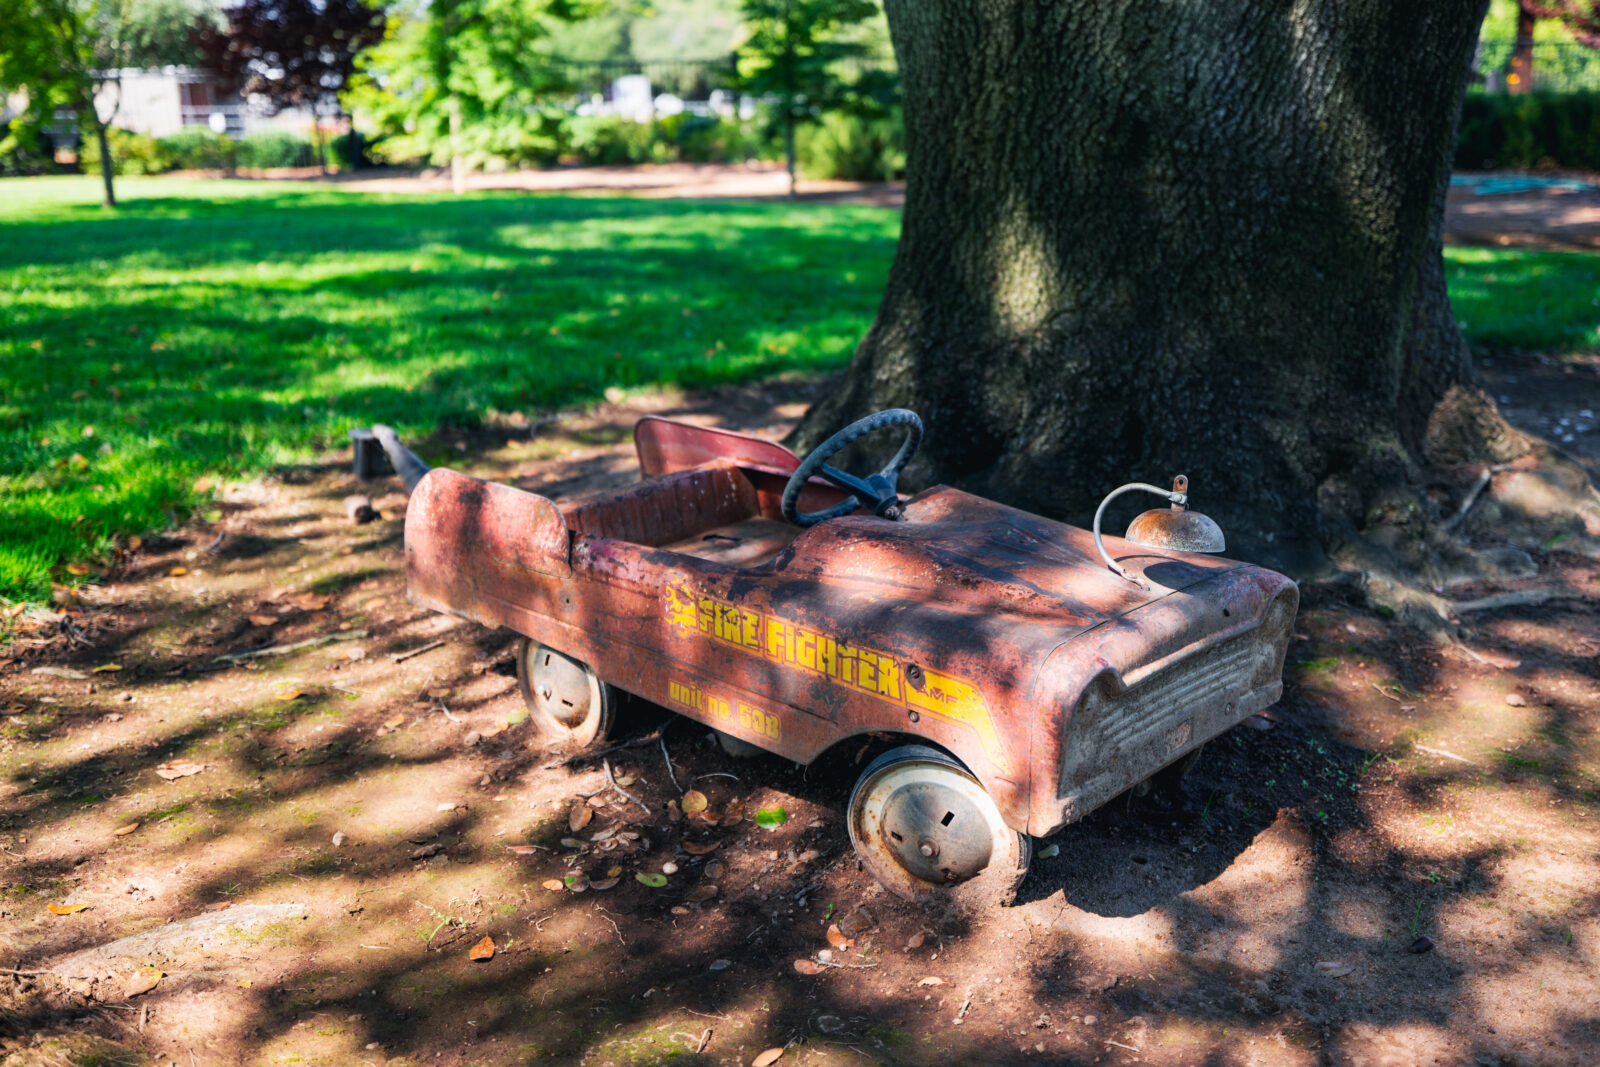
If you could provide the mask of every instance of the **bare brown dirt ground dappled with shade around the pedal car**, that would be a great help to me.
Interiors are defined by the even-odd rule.
[[[774,387],[685,408],[778,435],[792,418],[778,402],[805,400]],[[643,410],[426,451],[565,496],[634,477],[618,430]],[[637,801],[595,761],[552,765],[506,726],[509,637],[406,605],[400,501],[379,496],[386,518],[354,526],[355,488],[336,458],[230,488],[218,523],[147,545],[91,597],[91,646],[10,648],[10,960],[43,969],[232,902],[309,915],[160,960],[133,1000],[120,979],[96,1000],[10,979],[10,1064],[93,1041],[198,1064],[747,1064],[790,1043],[800,1064],[1581,1062],[1600,1048],[1592,601],[1483,617],[1467,646],[1434,648],[1309,590],[1267,717],[1211,742],[1176,789],[1040,841],[1059,851],[1016,907],[957,913],[891,901],[858,870],[842,824],[854,749],[811,768],[734,760],[634,704],[621,741],[642,744],[606,758]],[[1595,589],[1594,563],[1538,557]],[[216,661],[320,637],[347,640]],[[155,776],[176,758],[205,769]],[[677,821],[674,777],[712,811],[789,821]],[[662,888],[634,878],[666,864]],[[613,867],[614,888],[566,888]],[[853,931],[830,949],[848,966],[798,974],[829,923]],[[485,936],[494,957],[470,960]]]

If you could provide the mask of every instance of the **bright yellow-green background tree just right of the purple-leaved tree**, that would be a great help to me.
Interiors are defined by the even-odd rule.
[[[430,0],[400,14],[362,61],[352,104],[395,158],[450,163],[456,192],[478,158],[554,157],[546,112],[565,75],[546,54],[550,26],[594,8],[573,0]]]

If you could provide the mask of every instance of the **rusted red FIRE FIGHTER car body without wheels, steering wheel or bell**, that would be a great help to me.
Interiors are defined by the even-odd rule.
[[[1035,835],[1277,699],[1296,598],[1280,574],[1106,537],[1136,585],[1088,531],[947,486],[906,501],[904,522],[790,528],[733,566],[683,545],[781,522],[794,458],[774,470],[742,435],[707,454],[720,437],[650,422],[666,477],[606,499],[429,474],[406,512],[411,597],[802,763],[869,731],[926,739]],[[840,499],[806,493],[805,510]]]

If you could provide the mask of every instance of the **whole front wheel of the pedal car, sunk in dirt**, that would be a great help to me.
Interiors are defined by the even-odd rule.
[[[848,822],[861,862],[909,901],[960,891],[1010,902],[1032,859],[1027,835],[1005,824],[971,771],[926,745],[869,763]]]

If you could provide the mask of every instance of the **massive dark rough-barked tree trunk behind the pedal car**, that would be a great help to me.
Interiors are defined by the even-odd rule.
[[[1085,520],[1190,475],[1293,565],[1504,454],[1440,258],[1486,0],[888,0],[906,214],[795,435],[928,422],[910,483]]]

